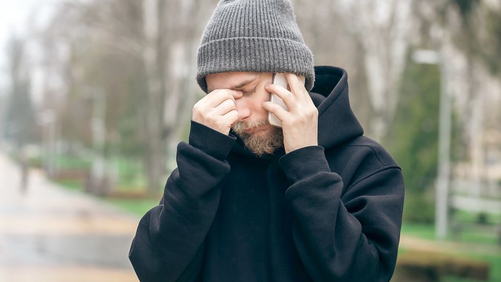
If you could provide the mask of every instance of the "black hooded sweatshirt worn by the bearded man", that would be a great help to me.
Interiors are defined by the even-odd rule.
[[[257,158],[233,131],[192,120],[129,259],[141,281],[389,281],[400,167],[363,130],[344,69],[315,67],[318,146]]]

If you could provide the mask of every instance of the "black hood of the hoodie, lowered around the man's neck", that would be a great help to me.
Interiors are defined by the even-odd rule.
[[[327,150],[363,135],[362,126],[350,107],[346,70],[334,66],[315,66],[315,84],[308,93],[319,111],[319,146]],[[232,152],[257,158],[232,129],[230,134],[236,137]],[[273,155],[264,155],[259,159],[278,161],[283,155],[285,150],[281,147]]]

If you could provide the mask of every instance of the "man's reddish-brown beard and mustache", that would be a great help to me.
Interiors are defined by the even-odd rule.
[[[283,146],[282,129],[271,126],[266,133],[262,131],[247,133],[245,130],[268,124],[270,124],[268,119],[251,122],[238,121],[233,125],[233,131],[242,138],[244,145],[251,152],[261,157],[265,154],[272,154],[277,148]]]

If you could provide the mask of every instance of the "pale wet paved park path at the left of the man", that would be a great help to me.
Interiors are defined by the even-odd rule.
[[[138,281],[127,254],[139,218],[31,170],[0,151],[0,281]]]

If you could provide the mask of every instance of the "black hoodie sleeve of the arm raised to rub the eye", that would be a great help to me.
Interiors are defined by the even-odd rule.
[[[204,239],[230,171],[226,157],[236,141],[191,121],[189,143],[177,145],[177,168],[167,179],[159,206],[140,220],[129,260],[141,281],[194,281],[204,254]],[[197,278],[198,277],[198,278]]]

